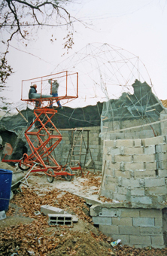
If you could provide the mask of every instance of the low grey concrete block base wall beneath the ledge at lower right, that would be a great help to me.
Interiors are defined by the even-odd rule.
[[[96,207],[99,209],[96,210]],[[93,223],[99,225],[102,233],[115,240],[121,239],[123,245],[136,248],[165,247],[162,221],[166,220],[166,215],[162,209],[112,208],[105,204],[92,206],[90,214],[93,216]]]

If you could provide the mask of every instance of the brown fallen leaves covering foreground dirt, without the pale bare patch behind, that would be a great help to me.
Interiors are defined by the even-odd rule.
[[[91,176],[90,176],[91,177]],[[91,182],[92,180],[92,182]],[[96,180],[90,178],[90,185]],[[87,186],[87,184],[85,184]],[[48,217],[35,215],[42,205],[56,206],[72,215],[77,215],[79,221],[73,226],[49,226]],[[1,227],[0,222],[0,255],[89,255],[89,256],[165,256],[167,248],[131,248],[122,246],[112,248],[111,237],[107,237],[93,226],[88,215],[89,208],[85,201],[66,191],[57,189],[38,195],[38,190],[23,187],[23,192],[14,195],[11,200],[7,219],[31,218],[28,224],[12,224]],[[4,220],[5,221],[5,220]],[[82,225],[80,225],[82,224]]]

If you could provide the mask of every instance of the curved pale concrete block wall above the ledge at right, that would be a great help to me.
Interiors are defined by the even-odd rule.
[[[132,206],[162,205],[167,200],[166,139],[105,140],[102,195]]]

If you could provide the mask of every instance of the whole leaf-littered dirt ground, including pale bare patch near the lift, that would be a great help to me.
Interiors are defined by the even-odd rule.
[[[44,174],[31,174],[29,187],[23,185],[22,192],[15,192],[7,218],[0,221],[0,255],[167,255],[166,248],[131,248],[121,243],[111,246],[113,239],[93,225],[90,208],[83,199],[98,200],[101,179],[98,172],[85,172],[83,178],[70,182],[59,177],[48,183]],[[78,221],[72,226],[50,226],[47,216],[35,215],[46,204],[64,209]]]

